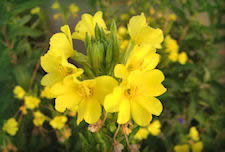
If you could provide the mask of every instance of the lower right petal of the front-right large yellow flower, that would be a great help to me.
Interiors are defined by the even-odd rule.
[[[140,97],[137,101],[146,111],[159,116],[163,110],[162,103],[155,97]]]

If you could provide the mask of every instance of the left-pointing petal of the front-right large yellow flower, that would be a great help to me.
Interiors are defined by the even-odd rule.
[[[113,92],[105,97],[104,108],[107,112],[118,112],[122,94],[120,87],[114,88]]]

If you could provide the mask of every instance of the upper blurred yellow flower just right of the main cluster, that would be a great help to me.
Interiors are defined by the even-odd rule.
[[[172,39],[169,35],[165,38],[165,47],[167,52],[178,52],[178,44],[175,39]]]

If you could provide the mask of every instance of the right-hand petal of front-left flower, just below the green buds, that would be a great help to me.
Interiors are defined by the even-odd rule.
[[[103,104],[105,96],[112,93],[114,87],[118,85],[118,82],[110,76],[100,76],[96,79],[96,96],[98,101]]]

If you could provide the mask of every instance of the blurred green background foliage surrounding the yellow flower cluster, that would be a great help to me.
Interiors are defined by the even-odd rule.
[[[197,126],[205,152],[225,149],[225,71],[224,48],[221,47],[225,41],[223,0],[89,0],[75,3],[80,7],[80,13],[102,10],[107,23],[115,19],[120,25],[128,22],[121,19],[121,15],[126,14],[130,18],[144,12],[150,17],[152,27],[170,34],[178,41],[179,49],[188,54],[189,62],[185,65],[159,64],[168,88],[167,93],[161,96],[164,106],[159,117],[162,132],[157,137],[149,136],[144,140],[141,151],[173,151],[174,145],[182,143],[191,126]],[[44,72],[39,68],[39,58],[48,50],[49,37],[56,32],[54,25],[63,25],[52,19],[54,12],[49,4],[41,0],[0,2],[0,128],[20,106],[20,101],[13,97],[12,90],[16,85],[36,95],[42,88],[40,78]],[[31,14],[31,9],[36,6],[41,7],[40,14]],[[154,15],[150,14],[150,8],[155,10]],[[177,19],[170,23],[168,14],[172,13]],[[69,23],[74,25],[78,18],[69,20]],[[79,45],[75,47],[83,48]],[[43,101],[44,104],[47,102]],[[184,123],[181,124],[179,119]],[[20,123],[16,136],[9,137],[0,130],[0,145],[3,148],[8,138],[20,151],[81,151],[81,148],[82,151],[100,151],[104,145],[111,144],[101,133],[93,135],[88,132],[86,124],[77,127],[72,120],[69,125],[73,128],[72,136],[62,144],[48,124],[44,127],[49,132],[35,134],[37,129],[30,114]]]

